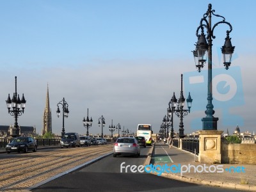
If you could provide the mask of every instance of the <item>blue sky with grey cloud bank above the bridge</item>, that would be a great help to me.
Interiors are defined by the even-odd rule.
[[[218,130],[256,132],[253,66],[256,52],[254,8],[246,1],[0,1],[0,124],[13,125],[6,99],[15,92],[26,99],[18,124],[42,132],[47,84],[52,132],[61,134],[56,115],[63,98],[70,111],[65,132],[85,134],[83,118],[92,116],[92,134],[104,116],[103,133],[118,123],[136,132],[138,124],[151,124],[159,132],[173,92],[190,92],[191,111],[184,116],[184,132],[202,130],[207,105],[207,64],[198,73],[191,51],[196,29],[208,4],[232,25],[232,64],[225,70],[220,48],[229,27],[219,24],[212,41],[212,82]],[[212,16],[212,26],[221,21]],[[206,32],[205,32],[206,33]],[[199,79],[199,80],[198,80]],[[21,96],[20,96],[21,97]],[[185,108],[187,106],[185,105]],[[62,115],[62,112],[61,112]],[[174,131],[179,118],[173,116]],[[117,132],[114,132],[114,134]]]

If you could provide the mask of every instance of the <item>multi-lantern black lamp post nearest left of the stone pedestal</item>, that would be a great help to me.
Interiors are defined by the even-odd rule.
[[[184,138],[184,125],[183,125],[183,117],[185,115],[188,115],[188,113],[190,112],[190,108],[191,108],[191,103],[193,101],[193,99],[191,99],[190,93],[188,94],[188,99],[187,99],[187,103],[188,103],[188,109],[183,109],[184,108],[184,104],[185,104],[185,98],[183,95],[183,90],[182,90],[182,77],[183,75],[181,74],[181,91],[180,91],[180,99],[177,103],[177,99],[175,98],[175,93],[173,93],[173,97],[172,97],[172,102],[173,102],[173,112],[175,111],[175,114],[180,118],[180,129],[179,129],[179,137],[180,138]],[[178,104],[177,109],[175,109],[176,104]]]

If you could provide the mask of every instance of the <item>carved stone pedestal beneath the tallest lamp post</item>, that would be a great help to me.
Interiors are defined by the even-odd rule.
[[[203,130],[199,131],[200,163],[221,163],[221,134],[223,131]]]

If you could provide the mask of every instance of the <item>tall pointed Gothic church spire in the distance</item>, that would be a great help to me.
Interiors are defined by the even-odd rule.
[[[52,113],[51,113],[51,108],[50,108],[48,84],[47,84],[47,93],[46,93],[46,102],[45,102],[45,108],[44,108],[44,116],[43,116],[42,135],[44,135],[45,132],[52,132]]]

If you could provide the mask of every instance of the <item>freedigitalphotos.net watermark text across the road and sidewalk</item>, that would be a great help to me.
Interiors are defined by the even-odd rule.
[[[158,176],[162,175],[162,173],[180,173],[182,176],[184,173],[245,173],[245,168],[243,166],[230,166],[229,168],[224,168],[223,164],[212,164],[208,166],[207,164],[164,164],[164,165],[125,165],[125,162],[120,164],[120,173],[157,173]]]

